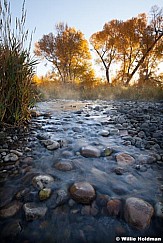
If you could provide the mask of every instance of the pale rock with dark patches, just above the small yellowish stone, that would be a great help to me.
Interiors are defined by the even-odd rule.
[[[50,183],[54,181],[54,178],[50,175],[38,175],[32,179],[32,184],[38,189],[43,189],[47,187]]]

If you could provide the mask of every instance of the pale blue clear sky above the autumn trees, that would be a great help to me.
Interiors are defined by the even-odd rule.
[[[23,0],[10,0],[13,17],[20,17]],[[26,28],[33,34],[34,43],[44,34],[55,31],[59,22],[80,30],[87,40],[112,19],[127,20],[139,13],[149,13],[152,6],[163,7],[163,0],[26,0]],[[32,53],[33,54],[33,53]],[[45,75],[50,66],[41,62],[36,69],[38,76]]]

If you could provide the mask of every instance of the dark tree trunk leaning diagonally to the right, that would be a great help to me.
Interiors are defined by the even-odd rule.
[[[138,70],[138,68],[141,66],[141,64],[144,62],[146,56],[150,53],[150,51],[154,48],[154,46],[156,45],[156,43],[161,39],[161,37],[163,36],[163,32],[155,39],[155,41],[152,43],[152,45],[147,49],[147,51],[145,52],[145,54],[142,56],[142,58],[140,59],[140,61],[138,62],[138,64],[136,65],[136,67],[134,68],[134,70],[132,71],[132,73],[129,75],[127,81],[126,81],[126,85],[129,84],[129,82],[131,81],[132,77],[134,76],[134,74],[136,73],[136,71]]]

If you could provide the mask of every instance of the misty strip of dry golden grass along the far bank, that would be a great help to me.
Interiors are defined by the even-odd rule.
[[[82,86],[73,84],[61,85],[57,82],[44,82],[38,85],[42,99],[75,99],[75,100],[163,100],[161,87],[110,87],[107,84]]]

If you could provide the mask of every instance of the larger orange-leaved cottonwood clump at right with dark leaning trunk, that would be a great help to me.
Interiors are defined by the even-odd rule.
[[[162,58],[162,13],[162,9],[154,6],[149,23],[146,14],[127,21],[112,20],[104,25],[102,31],[91,36],[91,44],[106,70],[108,83],[113,63],[120,67],[117,78],[125,85],[129,85],[138,71],[141,77],[144,73],[146,79],[154,73]]]

